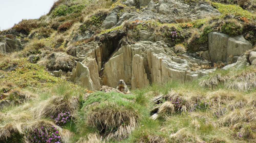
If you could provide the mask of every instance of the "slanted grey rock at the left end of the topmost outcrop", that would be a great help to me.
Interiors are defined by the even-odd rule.
[[[118,18],[118,10],[111,11],[103,21],[101,28],[109,29],[116,25]]]

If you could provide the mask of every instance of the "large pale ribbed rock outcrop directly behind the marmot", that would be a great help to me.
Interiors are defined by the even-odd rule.
[[[175,56],[163,41],[138,42],[122,46],[105,64],[101,78],[103,85],[110,87],[115,87],[119,79],[124,79],[127,85],[138,88],[171,80],[185,82],[212,71],[190,71],[190,67],[194,65]]]

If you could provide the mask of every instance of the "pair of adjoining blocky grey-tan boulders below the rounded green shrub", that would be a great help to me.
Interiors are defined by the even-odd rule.
[[[220,32],[209,33],[209,55],[212,62],[233,61],[232,57],[242,55],[252,49],[252,44],[242,35],[229,37]]]

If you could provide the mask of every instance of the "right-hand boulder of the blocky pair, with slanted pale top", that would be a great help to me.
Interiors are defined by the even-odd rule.
[[[229,56],[242,55],[246,51],[252,49],[252,44],[243,38],[243,35],[228,38],[227,58]]]

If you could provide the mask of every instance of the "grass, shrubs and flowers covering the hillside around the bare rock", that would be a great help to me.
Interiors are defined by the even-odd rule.
[[[216,71],[191,82],[150,83],[132,94],[94,92],[69,76],[51,74],[59,69],[68,74],[76,67],[77,46],[128,30],[152,32],[167,40],[175,55],[204,49],[211,31],[241,34],[255,47],[255,0],[179,1],[207,3],[222,15],[172,23],[126,21],[108,29],[101,26],[113,8],[119,7],[121,15],[142,13],[145,7],[126,6],[125,0],[59,0],[47,15],[0,31],[0,41],[18,39],[23,45],[20,51],[0,51],[0,143],[256,142],[253,64],[228,70],[217,64],[198,67]],[[90,38],[74,40],[76,35]]]

